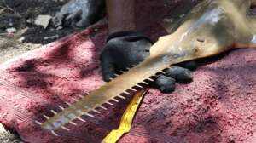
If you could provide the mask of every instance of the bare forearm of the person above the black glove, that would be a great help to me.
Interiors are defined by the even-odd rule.
[[[108,35],[114,31],[136,31],[134,0],[105,0]]]

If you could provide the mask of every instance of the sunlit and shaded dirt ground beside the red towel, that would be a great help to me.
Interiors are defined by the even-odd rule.
[[[55,13],[60,11],[61,6],[68,2],[59,0],[0,0],[0,64],[24,54],[29,50],[38,49],[41,46],[54,42],[61,37],[66,37],[75,31],[81,31],[84,28],[64,27],[61,30],[55,30],[54,26],[44,29],[43,26],[36,26],[34,21],[39,14],[49,14],[54,17]],[[15,27],[16,32],[9,34],[6,29]],[[52,37],[44,40],[44,37]],[[19,39],[24,40],[19,43]],[[23,142],[19,135],[12,129],[0,131],[0,142]]]

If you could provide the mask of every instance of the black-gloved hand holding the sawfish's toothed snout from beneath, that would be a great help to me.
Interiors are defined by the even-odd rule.
[[[153,41],[142,32],[138,31],[117,31],[108,36],[107,44],[100,55],[102,62],[103,79],[110,82],[114,73],[127,71],[149,56],[149,50]],[[195,61],[183,62],[179,66],[195,69]],[[193,78],[192,72],[187,68],[171,66],[166,74],[159,74],[154,83],[151,84],[161,92],[172,92],[175,89],[175,81],[189,81]]]

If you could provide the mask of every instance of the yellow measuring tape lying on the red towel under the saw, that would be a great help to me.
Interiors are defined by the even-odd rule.
[[[141,100],[143,99],[143,95],[148,91],[148,89],[151,88],[144,88],[133,97],[131,103],[126,108],[125,113],[121,118],[119,129],[113,129],[104,138],[104,140],[102,140],[102,143],[115,143],[123,134],[130,131],[132,119],[137,111],[137,106],[139,106]]]

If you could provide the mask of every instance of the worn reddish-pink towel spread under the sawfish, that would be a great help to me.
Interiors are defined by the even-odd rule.
[[[166,6],[165,6],[166,4]],[[139,0],[137,29],[154,42],[166,35],[157,21],[184,3]],[[255,10],[254,10],[255,11]],[[253,11],[252,11],[253,14]],[[97,31],[96,31],[97,29]],[[57,105],[73,104],[104,84],[99,55],[108,37],[108,23],[91,26],[0,66],[0,121],[19,132],[27,142],[100,142],[119,127],[132,95],[108,111],[86,117],[87,122],[67,124],[59,136],[45,132],[34,120],[44,122]],[[190,83],[177,83],[172,94],[150,89],[139,107],[131,132],[120,143],[148,142],[253,142],[256,140],[256,49],[236,49],[199,60]],[[207,62],[205,62],[207,61]],[[105,105],[104,105],[105,106]]]

